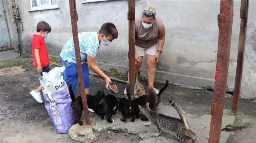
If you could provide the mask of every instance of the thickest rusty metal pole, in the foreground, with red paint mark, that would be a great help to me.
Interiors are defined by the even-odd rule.
[[[219,41],[214,84],[214,97],[211,106],[211,125],[208,143],[219,143],[221,123],[228,79],[228,64],[233,24],[234,0],[220,1],[218,14]]]

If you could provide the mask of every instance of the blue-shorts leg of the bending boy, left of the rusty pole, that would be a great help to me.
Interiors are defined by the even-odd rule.
[[[65,66],[64,80],[67,85],[69,84],[69,82],[72,83],[73,93],[76,93],[76,83],[78,81],[76,64],[62,60],[62,65]]]

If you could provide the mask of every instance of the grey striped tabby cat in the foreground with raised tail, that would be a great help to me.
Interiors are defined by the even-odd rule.
[[[149,95],[151,95],[150,96],[151,98],[156,97],[154,95],[156,93],[153,88],[148,87],[148,91],[149,91]],[[156,133],[155,136],[159,136],[162,130],[164,130],[168,133],[175,135],[181,141],[185,141],[188,143],[194,142],[197,138],[196,134],[190,130],[187,118],[185,117],[183,110],[180,108],[178,104],[176,104],[171,99],[169,100],[169,103],[172,104],[172,106],[177,110],[180,116],[180,119],[173,118],[164,114],[160,114],[160,113],[157,113],[156,111],[151,111],[148,107],[149,106],[148,103],[144,106],[139,105],[139,108],[140,108],[140,112],[145,116],[147,116],[150,123],[156,126],[158,133]]]

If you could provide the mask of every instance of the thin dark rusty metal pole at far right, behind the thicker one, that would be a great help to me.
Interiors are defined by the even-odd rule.
[[[236,64],[235,88],[234,88],[234,96],[233,96],[233,102],[232,102],[232,111],[234,111],[236,114],[237,114],[237,109],[239,105],[241,80],[242,80],[242,74],[243,74],[244,48],[245,48],[245,41],[246,41],[248,11],[249,11],[249,0],[241,0],[240,34],[239,34],[239,44],[238,44],[238,54],[237,54],[237,64]]]

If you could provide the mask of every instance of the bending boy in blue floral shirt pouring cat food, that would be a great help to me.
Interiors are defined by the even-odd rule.
[[[99,32],[82,32],[78,33],[82,69],[84,75],[84,86],[86,94],[89,94],[90,78],[89,67],[105,80],[106,88],[108,89],[111,80],[104,74],[95,63],[95,56],[100,48],[100,44],[109,46],[114,39],[117,39],[118,31],[113,23],[104,23]],[[62,65],[65,66],[64,77],[65,82],[68,84],[72,82],[73,92],[76,92],[76,83],[78,81],[76,56],[73,37],[63,46],[60,57],[62,59]],[[89,66],[89,67],[88,67]]]

